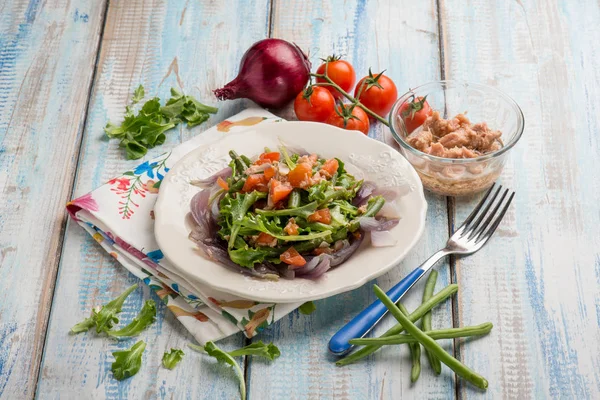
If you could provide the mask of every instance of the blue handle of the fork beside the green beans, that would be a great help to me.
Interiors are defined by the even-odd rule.
[[[390,299],[395,302],[414,285],[427,270],[417,268],[404,279],[402,279],[396,286],[391,288],[387,295]],[[360,314],[348,322],[342,329],[337,331],[335,335],[329,340],[329,351],[334,354],[345,354],[352,348],[352,345],[348,343],[350,339],[363,337],[367,334],[371,328],[385,315],[387,308],[379,300],[372,303],[369,307],[365,308]]]

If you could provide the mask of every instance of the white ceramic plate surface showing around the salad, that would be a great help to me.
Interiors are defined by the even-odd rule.
[[[254,157],[264,147],[280,143],[299,146],[322,157],[338,157],[355,176],[380,187],[402,186],[408,194],[399,200],[400,223],[391,231],[394,247],[374,248],[366,238],[345,263],[318,280],[296,278],[277,282],[243,276],[204,258],[188,239],[186,225],[190,199],[201,189],[189,184],[206,178],[229,163],[228,153]],[[425,227],[427,203],[417,173],[395,150],[357,131],[311,122],[265,123],[199,147],[181,159],[165,177],[155,206],[155,236],[177,272],[214,289],[243,298],[277,303],[317,300],[355,289],[397,265],[415,245]]]

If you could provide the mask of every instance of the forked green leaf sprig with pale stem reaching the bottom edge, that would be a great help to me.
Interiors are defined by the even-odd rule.
[[[240,397],[242,400],[246,399],[246,382],[244,381],[244,372],[233,357],[259,356],[272,361],[281,355],[281,352],[273,343],[264,344],[262,341],[252,343],[246,347],[242,347],[241,349],[230,352],[226,352],[218,348],[213,342],[206,342],[204,346],[198,346],[190,343],[188,346],[191,349],[214,357],[220,363],[232,366],[239,380]]]

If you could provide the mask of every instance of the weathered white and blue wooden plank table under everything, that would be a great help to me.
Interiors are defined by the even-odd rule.
[[[517,197],[493,244],[439,266],[441,283],[460,291],[435,310],[434,326],[495,325],[484,339],[447,342],[487,377],[487,392],[447,368],[437,378],[423,368],[411,385],[399,347],[334,367],[327,340],[371,301],[367,285],[257,337],[282,356],[245,361],[249,398],[600,398],[600,5],[591,0],[1,0],[0,398],[238,396],[230,371],[204,357],[159,366],[165,348],[192,340],[163,308],[142,335],[141,371],[123,382],[109,372],[113,343],[67,335],[134,279],[67,221],[64,205],[134,165],[102,128],[135,86],[160,97],[180,86],[208,102],[268,36],[310,50],[313,63],[338,53],[361,73],[386,68],[400,90],[440,78],[498,87],[523,108],[526,130],[501,177]],[[222,103],[209,124],[169,135],[148,157],[247,104]],[[379,285],[440,247],[477,200],[427,199],[426,234]],[[150,296],[135,292],[123,318]],[[239,334],[222,343],[247,342]]]

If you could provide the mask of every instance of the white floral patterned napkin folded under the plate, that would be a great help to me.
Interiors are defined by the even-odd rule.
[[[239,331],[252,337],[300,304],[241,299],[178,276],[154,239],[154,203],[169,168],[203,143],[228,132],[280,121],[252,108],[223,121],[170,153],[138,165],[67,204],[71,217],[129,272],[144,281],[200,343]]]

